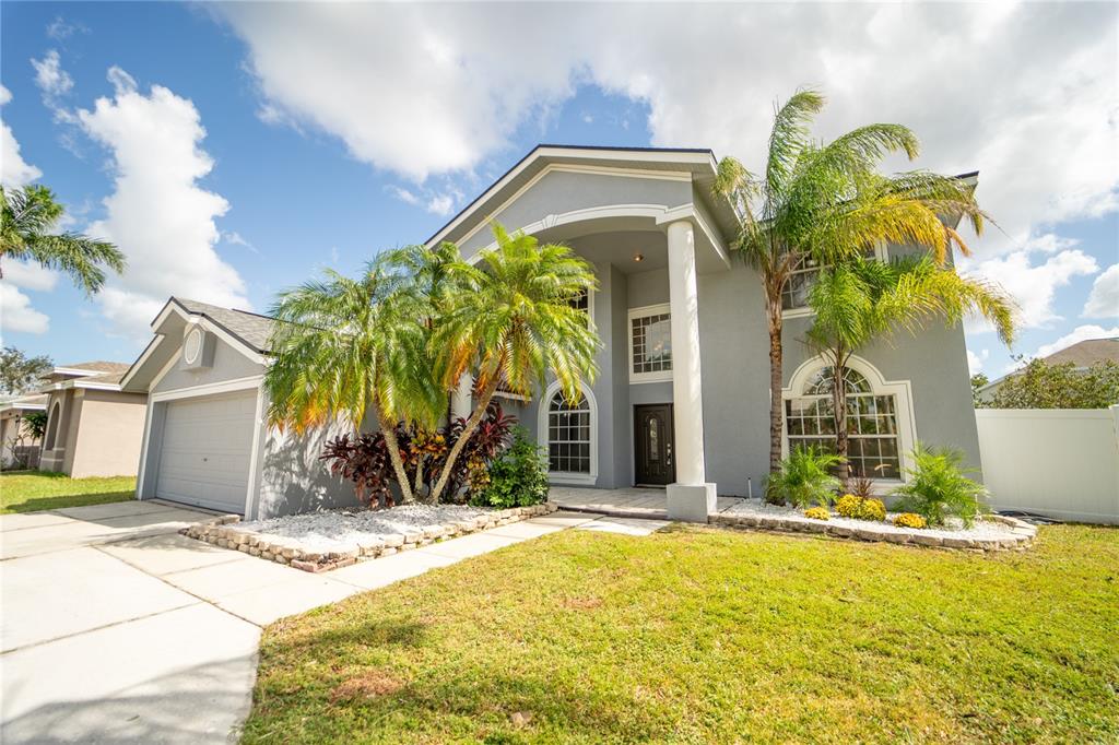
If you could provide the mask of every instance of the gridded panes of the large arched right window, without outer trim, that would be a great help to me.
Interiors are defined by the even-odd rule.
[[[784,403],[789,450],[814,445],[835,452],[831,367],[820,368],[799,398]],[[847,460],[852,472],[867,479],[900,479],[899,409],[895,395],[875,394],[857,370],[845,369]]]

